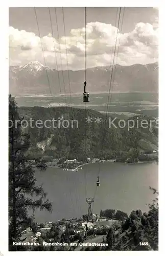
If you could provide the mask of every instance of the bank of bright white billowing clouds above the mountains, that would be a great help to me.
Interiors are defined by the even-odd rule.
[[[38,60],[44,64],[45,60],[46,65],[58,69],[62,67],[64,70],[67,69],[68,61],[69,69],[84,69],[86,48],[87,68],[108,66],[113,62],[115,42],[117,46],[115,63],[119,65],[147,64],[158,60],[157,18],[153,25],[142,22],[136,24],[129,33],[122,33],[111,24],[100,22],[88,23],[86,32],[85,46],[85,28],[70,30],[69,36],[61,37],[58,42],[52,34],[39,38],[35,33],[9,27],[12,59],[10,64],[15,65],[16,60],[22,65],[31,60]]]

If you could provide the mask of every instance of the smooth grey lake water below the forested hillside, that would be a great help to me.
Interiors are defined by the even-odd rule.
[[[157,163],[100,163],[100,187],[97,188],[99,163],[82,167],[79,172],[65,172],[60,168],[49,167],[44,173],[36,173],[37,185],[43,184],[49,200],[53,203],[52,214],[45,210],[36,211],[38,223],[87,214],[85,196],[93,197],[95,191],[95,214],[100,214],[101,209],[119,209],[128,214],[134,209],[148,211],[146,203],[151,203],[155,197],[149,186],[158,189]]]

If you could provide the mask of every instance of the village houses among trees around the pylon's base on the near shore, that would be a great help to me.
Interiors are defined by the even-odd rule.
[[[106,235],[109,227],[114,224],[119,223],[117,220],[103,219],[97,214],[93,214],[93,223],[89,221],[87,223],[88,234],[86,239],[90,240],[93,237],[102,237]],[[95,236],[92,235],[92,228],[94,226]],[[66,229],[69,227],[69,241],[78,242],[81,241],[85,236],[86,221],[82,218],[72,218],[72,219],[62,219],[53,223],[52,221],[37,224],[36,232],[32,228],[28,227],[26,230],[21,232],[21,239],[25,239],[25,242],[34,243],[38,241],[38,238],[42,242],[54,242],[54,238],[49,238],[50,233],[55,229],[59,230],[58,237],[61,238],[62,234],[65,233]]]

